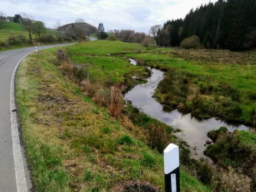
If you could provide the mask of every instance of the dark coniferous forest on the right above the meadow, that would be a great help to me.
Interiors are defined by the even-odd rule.
[[[218,0],[191,9],[184,19],[158,30],[160,46],[180,46],[196,35],[206,48],[245,50],[256,46],[256,0]]]

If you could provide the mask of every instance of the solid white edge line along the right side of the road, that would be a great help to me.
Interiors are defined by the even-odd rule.
[[[17,111],[16,111],[17,108],[16,108],[16,103],[15,103],[15,88],[14,88],[15,76],[16,76],[18,66],[20,65],[21,61],[26,56],[28,56],[28,54],[26,54],[24,57],[22,57],[16,64],[16,66],[12,72],[12,79],[11,79],[11,85],[10,85],[12,149],[13,149],[13,158],[14,158],[14,166],[15,166],[17,192],[28,192],[28,186],[27,186],[27,182],[26,182],[26,175],[25,175],[24,164],[23,164],[23,160],[22,160],[21,146],[20,146],[20,136],[19,136],[19,130],[18,130]]]

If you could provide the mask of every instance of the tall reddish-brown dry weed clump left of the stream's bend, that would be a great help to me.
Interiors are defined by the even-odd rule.
[[[108,110],[112,116],[119,118],[122,110],[123,95],[122,91],[119,88],[111,88],[111,99],[110,104],[108,105]]]

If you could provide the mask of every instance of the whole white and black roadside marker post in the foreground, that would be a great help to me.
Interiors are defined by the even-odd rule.
[[[169,144],[164,150],[165,192],[180,192],[179,147]]]

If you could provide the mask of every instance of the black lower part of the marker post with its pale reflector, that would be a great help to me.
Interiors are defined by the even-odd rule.
[[[180,167],[164,174],[165,192],[180,192]]]

